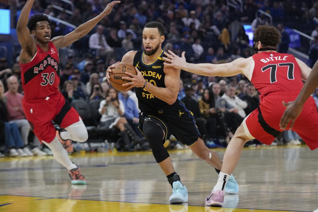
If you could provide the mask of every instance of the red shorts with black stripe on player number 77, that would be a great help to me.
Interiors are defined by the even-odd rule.
[[[259,102],[259,108],[245,117],[243,127],[246,135],[260,142],[270,145],[282,132],[279,127],[280,118],[285,107],[282,101],[294,101],[299,92],[273,92]],[[287,126],[286,129],[289,129]],[[311,150],[318,147],[318,112],[315,100],[312,97],[305,102],[303,110],[296,119],[293,131],[295,131]]]

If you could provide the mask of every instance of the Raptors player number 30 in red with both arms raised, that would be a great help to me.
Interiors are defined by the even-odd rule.
[[[34,134],[52,150],[54,158],[68,169],[72,184],[86,184],[78,166],[67,155],[67,152],[73,152],[72,140],[84,142],[88,136],[79,114],[58,90],[58,51],[91,31],[120,1],[107,4],[100,15],[66,36],[52,40],[47,16],[37,14],[28,20],[33,3],[34,0],[26,2],[17,23],[17,36],[22,46],[20,66],[24,90],[23,110]],[[52,120],[57,125],[53,126]]]

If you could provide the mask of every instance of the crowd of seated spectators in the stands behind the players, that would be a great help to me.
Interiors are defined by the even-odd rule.
[[[185,51],[185,57],[189,62],[215,64],[252,55],[249,38],[239,23],[252,24],[253,29],[258,25],[268,24],[264,16],[255,18],[255,13],[259,9],[271,14],[274,22],[279,23],[277,28],[282,34],[279,51],[282,53],[288,50],[289,36],[281,22],[304,22],[310,26],[306,29],[310,30],[309,33],[313,30],[313,24],[318,24],[318,2],[245,0],[243,11],[238,2],[230,2],[236,7],[228,8],[226,1],[215,0],[122,0],[94,30],[71,46],[69,50],[73,51],[67,51],[65,58],[60,59],[62,94],[70,102],[100,101],[98,112],[101,118],[97,125],[116,128],[120,131],[122,140],[127,140],[124,133],[126,131],[129,134],[129,142],[134,139],[140,141],[142,135],[137,129],[139,110],[135,93],[133,90],[128,93],[117,93],[108,84],[105,70],[109,65],[121,60],[127,51],[142,49],[142,29],[147,22],[159,21],[165,26],[163,50],[171,50],[179,56]],[[1,1],[0,8],[16,11],[18,18],[24,3],[25,1],[21,0],[4,0]],[[73,14],[68,14],[67,10],[71,11],[72,8],[62,1],[36,0],[31,13],[45,13],[79,26],[98,15],[108,1],[73,0],[73,3]],[[52,7],[53,4],[65,10],[56,10]],[[232,27],[233,25],[237,27]],[[68,27],[54,21],[51,29],[52,37],[70,31]],[[309,57],[314,63],[318,58],[318,27],[312,33],[315,40],[310,47]],[[9,150],[16,149],[17,152],[24,148],[29,149],[30,138],[26,134],[30,127],[26,127],[27,121],[19,103],[23,96],[19,64],[9,65],[7,60],[2,58],[0,80],[3,82],[3,85],[0,84],[0,91],[2,89],[3,93],[6,92],[5,95],[1,95],[0,92],[0,109],[6,106],[8,111],[8,116],[0,117],[0,120],[6,127],[9,125],[5,123],[9,121],[11,131],[16,131],[17,128],[21,131],[21,138],[5,138],[6,146]],[[12,86],[15,86],[14,92],[10,91]],[[317,97],[317,92],[315,96]],[[202,134],[206,135],[205,142],[210,147],[226,146],[239,124],[246,115],[258,107],[259,102],[257,91],[244,75],[204,77],[184,71],[181,71],[178,98],[193,112],[197,126]],[[15,117],[10,117],[10,113]],[[0,132],[1,123],[0,121]],[[288,139],[299,139],[292,138]],[[286,138],[286,141],[289,141],[288,139]],[[15,143],[10,140],[14,140]],[[124,141],[124,144],[127,142]],[[123,150],[130,150],[133,146],[124,147]]]

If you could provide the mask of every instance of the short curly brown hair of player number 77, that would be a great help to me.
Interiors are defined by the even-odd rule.
[[[263,48],[274,47],[277,49],[280,37],[280,32],[274,26],[260,25],[254,32],[254,42],[260,41]]]

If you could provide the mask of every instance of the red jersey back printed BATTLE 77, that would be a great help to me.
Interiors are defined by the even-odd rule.
[[[301,69],[291,54],[262,52],[252,56],[254,68],[251,82],[260,98],[275,91],[300,91]]]

